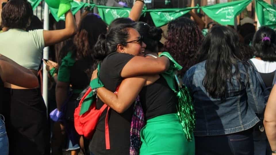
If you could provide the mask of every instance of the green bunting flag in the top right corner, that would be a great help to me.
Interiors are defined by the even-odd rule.
[[[256,0],[256,14],[261,26],[276,27],[276,7],[264,1]]]

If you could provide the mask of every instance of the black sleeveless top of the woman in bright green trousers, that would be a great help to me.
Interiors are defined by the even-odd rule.
[[[177,97],[161,75],[156,82],[143,87],[139,96],[146,120],[177,113]]]

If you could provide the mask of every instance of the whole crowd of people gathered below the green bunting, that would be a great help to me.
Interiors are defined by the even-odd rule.
[[[136,0],[129,18],[110,25],[89,9],[76,24],[68,11],[51,30],[26,0],[3,7],[1,155],[276,154],[276,32],[251,23],[204,29],[192,11],[193,20],[162,30],[141,21],[143,6]],[[102,113],[89,137],[76,115],[91,107]]]

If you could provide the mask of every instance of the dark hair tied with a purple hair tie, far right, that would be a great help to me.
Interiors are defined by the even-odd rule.
[[[276,61],[276,33],[273,29],[263,26],[253,37],[254,55],[263,61]]]

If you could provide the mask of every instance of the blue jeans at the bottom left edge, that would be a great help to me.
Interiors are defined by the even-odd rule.
[[[9,140],[4,123],[4,116],[0,114],[0,152],[3,155],[9,154]]]

